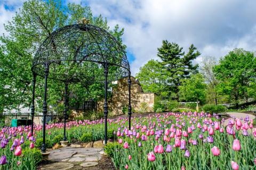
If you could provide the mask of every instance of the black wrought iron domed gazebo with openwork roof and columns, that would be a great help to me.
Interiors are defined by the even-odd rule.
[[[105,144],[107,143],[107,89],[108,83],[119,78],[129,77],[129,128],[131,128],[131,71],[124,47],[106,30],[85,24],[65,26],[55,30],[39,46],[31,67],[33,72],[33,98],[31,107],[33,120],[35,115],[35,84],[36,77],[43,77],[43,145],[45,152],[45,124],[47,114],[47,79],[65,83],[64,135],[66,140],[67,90],[70,83],[90,84],[102,82],[105,88]]]

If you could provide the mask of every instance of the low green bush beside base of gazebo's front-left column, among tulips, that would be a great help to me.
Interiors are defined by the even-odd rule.
[[[42,153],[41,153],[41,150],[39,149],[36,149],[36,148],[33,148],[33,149],[30,149],[30,148],[25,148],[25,149],[22,149],[22,157],[23,159],[33,159],[35,161],[35,164],[38,165],[38,163],[41,162],[42,160]]]

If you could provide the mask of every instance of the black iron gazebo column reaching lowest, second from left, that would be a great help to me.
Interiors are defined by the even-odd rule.
[[[43,102],[43,145],[41,151],[44,153],[45,148],[45,124],[46,124],[46,114],[47,114],[47,78],[49,74],[49,64],[45,63],[44,65],[44,102]]]

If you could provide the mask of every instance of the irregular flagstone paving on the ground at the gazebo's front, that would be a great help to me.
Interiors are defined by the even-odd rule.
[[[98,161],[102,158],[102,148],[78,148],[64,147],[51,150],[48,160],[55,162],[39,167],[42,170],[67,170],[73,169],[74,164],[82,167],[90,167],[98,165]]]

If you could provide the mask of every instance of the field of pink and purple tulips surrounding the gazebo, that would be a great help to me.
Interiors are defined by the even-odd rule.
[[[108,133],[114,134],[115,141],[105,148],[110,148],[106,153],[111,153],[117,169],[256,169],[252,125],[248,117],[229,118],[225,125],[224,119],[204,112],[170,112],[134,117],[129,130],[128,119],[119,117],[108,119]],[[42,126],[35,125],[34,134],[30,128],[1,129],[0,169],[36,169]],[[79,141],[85,133],[92,134],[93,141],[102,140],[103,120],[67,123],[69,143]],[[46,147],[52,147],[55,136],[62,134],[62,123],[47,125]]]

